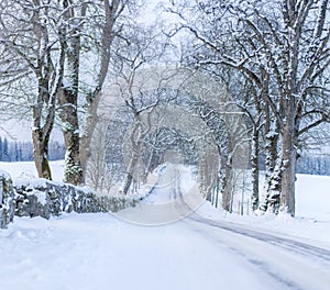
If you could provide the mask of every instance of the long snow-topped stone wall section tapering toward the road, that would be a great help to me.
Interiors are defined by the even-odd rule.
[[[117,212],[134,207],[138,200],[127,197],[99,197],[84,188],[46,179],[24,180],[14,185],[15,215],[51,216],[63,212]]]

